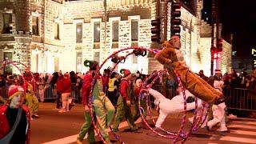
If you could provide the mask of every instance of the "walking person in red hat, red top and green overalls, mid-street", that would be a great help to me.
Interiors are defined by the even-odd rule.
[[[138,127],[134,124],[133,115],[130,110],[130,81],[133,78],[130,70],[124,70],[123,78],[120,83],[120,96],[118,98],[118,106],[117,106],[117,114],[114,118],[113,131],[118,131],[118,126],[120,122],[126,118],[128,125],[130,126],[130,130],[138,130]]]

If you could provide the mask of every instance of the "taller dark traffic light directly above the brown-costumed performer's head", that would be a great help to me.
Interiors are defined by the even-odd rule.
[[[181,4],[180,2],[172,2],[170,8],[171,8],[171,11],[170,11],[171,35],[174,35],[174,34],[179,35],[179,33],[181,32],[180,25],[182,24],[182,20],[180,18]]]

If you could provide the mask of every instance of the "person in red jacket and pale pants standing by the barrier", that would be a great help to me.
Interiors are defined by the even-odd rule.
[[[68,102],[68,98],[71,94],[71,81],[68,74],[64,74],[58,78],[57,81],[57,90],[60,94],[62,94],[62,110],[58,112],[63,113],[66,111],[70,111],[70,103]]]

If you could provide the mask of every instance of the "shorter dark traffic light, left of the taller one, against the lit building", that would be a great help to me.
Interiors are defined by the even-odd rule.
[[[152,42],[160,42],[160,39],[161,39],[161,37],[160,37],[160,31],[161,31],[160,25],[161,25],[160,18],[157,18],[157,19],[151,21],[151,26],[152,26],[152,28],[151,28],[151,33],[152,33],[151,41]]]

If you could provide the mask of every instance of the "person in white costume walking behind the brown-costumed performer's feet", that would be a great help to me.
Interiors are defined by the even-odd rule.
[[[220,92],[222,92],[222,86],[224,85],[224,82],[222,80],[214,81],[214,88],[218,89]],[[222,102],[218,105],[213,105],[212,110],[213,110],[213,115],[214,118],[207,122],[208,128],[211,130],[213,126],[215,126],[218,122],[220,122],[220,127],[218,131],[227,131],[226,128],[226,123],[225,123],[225,108],[226,104],[225,102]]]

